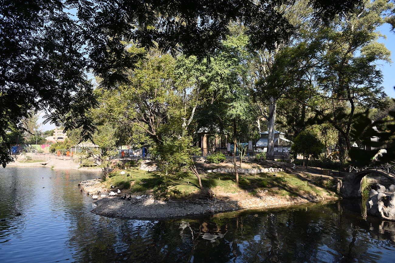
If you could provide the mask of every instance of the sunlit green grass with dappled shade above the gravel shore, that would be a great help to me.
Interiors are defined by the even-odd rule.
[[[171,198],[187,198],[199,194],[198,180],[195,176],[175,178],[164,177],[160,172],[145,172],[137,168],[129,168],[126,174],[121,175],[120,170],[109,174],[109,179],[103,182],[104,187],[115,185],[131,193],[147,194]],[[127,176],[129,174],[130,176]],[[273,176],[276,174],[277,176]],[[306,196],[317,194],[322,196],[324,191],[330,191],[306,183],[297,175],[286,172],[260,173],[257,175],[239,175],[239,186],[235,183],[233,174],[208,173],[201,175],[203,187],[215,189],[214,192],[237,193],[250,192],[256,195],[258,190],[267,189],[269,194],[279,196]],[[326,183],[329,185],[329,183]],[[325,185],[324,185],[325,186]]]

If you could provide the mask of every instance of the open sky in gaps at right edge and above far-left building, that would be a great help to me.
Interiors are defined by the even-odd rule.
[[[390,31],[390,26],[389,24],[384,24],[380,27],[380,31],[382,34],[387,36],[387,39],[381,38],[379,42],[384,43],[386,47],[391,51],[391,58],[392,61],[395,63],[395,33]],[[383,73],[383,87],[384,90],[386,91],[387,95],[389,97],[395,98],[395,64],[394,63],[386,63],[386,62],[380,62],[381,64],[378,65],[379,68],[381,69]],[[39,119],[39,122],[41,123],[43,121],[42,118]],[[43,125],[43,130],[51,130],[55,129],[54,124],[44,124]]]

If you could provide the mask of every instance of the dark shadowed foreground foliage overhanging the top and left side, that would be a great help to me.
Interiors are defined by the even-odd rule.
[[[359,0],[309,1],[317,21],[348,11]],[[0,160],[11,161],[7,131],[23,128],[32,110],[44,110],[46,121],[65,129],[94,131],[87,114],[96,101],[87,72],[114,88],[128,78],[139,56],[126,51],[130,42],[158,47],[175,55],[213,53],[229,22],[242,21],[253,47],[274,47],[293,34],[275,8],[282,0],[194,1],[49,1],[26,4],[5,0],[0,7]],[[226,8],[224,8],[226,7]],[[71,9],[76,11],[72,15]],[[23,19],[21,19],[23,18]],[[155,44],[157,43],[157,44]]]

